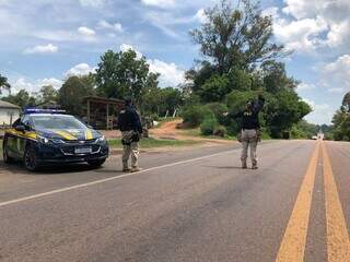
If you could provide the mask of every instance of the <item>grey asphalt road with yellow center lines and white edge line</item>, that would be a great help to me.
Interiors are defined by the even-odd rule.
[[[28,174],[0,162],[0,261],[350,261],[350,144],[278,141]]]

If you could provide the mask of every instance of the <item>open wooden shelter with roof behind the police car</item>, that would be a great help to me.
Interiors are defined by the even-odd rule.
[[[83,100],[88,106],[88,124],[106,130],[114,128],[117,116],[124,106],[124,100],[98,96],[86,96]]]

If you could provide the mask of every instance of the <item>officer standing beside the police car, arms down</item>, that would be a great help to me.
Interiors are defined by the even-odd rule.
[[[138,158],[142,126],[140,117],[132,105],[132,99],[129,97],[125,99],[125,106],[119,112],[118,128],[121,131],[121,143],[124,145],[122,171],[140,171],[141,169],[138,165]],[[129,168],[128,165],[130,155],[131,168]]]

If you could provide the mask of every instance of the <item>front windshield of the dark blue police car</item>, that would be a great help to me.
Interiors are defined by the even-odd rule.
[[[72,116],[32,116],[35,129],[85,129],[85,124]]]

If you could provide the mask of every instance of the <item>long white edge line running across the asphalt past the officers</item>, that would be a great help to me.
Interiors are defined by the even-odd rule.
[[[108,182],[108,181],[120,179],[120,178],[125,178],[125,177],[131,177],[131,176],[140,175],[142,172],[148,172],[148,171],[162,169],[162,168],[165,168],[165,167],[172,167],[172,166],[177,166],[177,165],[182,165],[182,164],[187,164],[187,163],[191,163],[191,162],[197,162],[197,160],[210,158],[210,157],[213,157],[213,156],[225,155],[225,154],[229,154],[229,153],[232,153],[232,152],[235,152],[235,151],[236,150],[224,151],[224,152],[220,152],[220,153],[212,154],[212,155],[206,155],[206,156],[196,157],[196,158],[191,158],[191,159],[187,159],[187,160],[166,164],[166,165],[163,165],[163,166],[151,167],[151,168],[138,171],[138,172],[128,172],[128,174],[125,174],[125,175],[119,175],[119,176],[115,176],[115,177],[110,177],[110,178],[105,178],[105,179],[101,179],[101,180],[96,180],[96,181],[92,181],[92,182],[80,183],[80,184],[72,186],[72,187],[56,189],[56,190],[44,192],[44,193],[33,194],[33,195],[30,195],[30,196],[24,196],[24,198],[20,198],[20,199],[15,199],[15,200],[10,200],[10,201],[5,201],[5,202],[1,202],[0,203],[0,207],[1,206],[5,206],[5,205],[20,203],[20,202],[24,202],[24,201],[27,201],[27,200],[34,200],[34,199],[39,199],[39,198],[51,195],[51,194],[57,194],[57,193],[61,193],[61,192],[66,192],[66,191],[71,191],[71,190],[74,190],[74,189],[86,188],[86,187],[90,187],[90,186],[104,183],[104,182]]]

